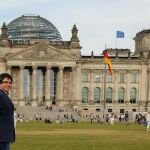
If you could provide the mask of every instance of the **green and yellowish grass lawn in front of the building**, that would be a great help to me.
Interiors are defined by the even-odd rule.
[[[150,132],[143,125],[90,122],[17,123],[11,150],[149,150]]]

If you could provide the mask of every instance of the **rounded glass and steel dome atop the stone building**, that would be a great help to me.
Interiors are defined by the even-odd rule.
[[[62,40],[57,28],[39,15],[23,15],[11,21],[7,27],[10,40]]]

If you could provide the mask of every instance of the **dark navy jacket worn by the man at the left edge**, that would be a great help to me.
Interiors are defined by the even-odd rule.
[[[14,105],[7,93],[0,90],[0,142],[14,141]]]

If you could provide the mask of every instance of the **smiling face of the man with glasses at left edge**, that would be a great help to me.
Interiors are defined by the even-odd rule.
[[[9,78],[4,78],[3,82],[0,84],[0,88],[6,92],[11,89],[12,81]]]

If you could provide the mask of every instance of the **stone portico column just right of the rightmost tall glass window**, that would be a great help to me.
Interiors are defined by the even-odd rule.
[[[64,67],[59,67],[59,100],[63,100],[63,69]]]

